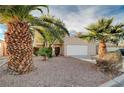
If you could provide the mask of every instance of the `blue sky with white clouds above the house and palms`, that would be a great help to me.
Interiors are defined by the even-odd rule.
[[[120,5],[52,5],[49,6],[50,14],[61,19],[70,33],[87,32],[85,27],[96,22],[102,17],[114,17],[114,24],[124,22],[124,6]],[[32,12],[34,16],[39,16],[38,11]],[[0,25],[0,39],[7,27]]]

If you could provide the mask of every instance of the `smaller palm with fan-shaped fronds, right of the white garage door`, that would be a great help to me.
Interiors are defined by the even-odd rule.
[[[124,29],[122,24],[112,25],[113,18],[102,18],[97,23],[89,25],[86,29],[88,34],[80,36],[80,38],[87,39],[89,41],[98,41],[98,55],[99,58],[107,53],[106,42],[117,43],[120,38],[124,36]]]

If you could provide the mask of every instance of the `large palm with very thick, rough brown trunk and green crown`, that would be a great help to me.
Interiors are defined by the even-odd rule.
[[[23,74],[32,70],[32,35],[29,31],[34,17],[32,10],[41,13],[46,5],[0,6],[0,22],[8,26],[5,42],[9,55],[8,69],[14,74]]]

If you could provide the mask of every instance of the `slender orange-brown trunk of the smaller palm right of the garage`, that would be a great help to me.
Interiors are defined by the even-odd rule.
[[[104,55],[106,54],[107,50],[106,50],[106,44],[104,40],[100,40],[99,42],[99,47],[98,47],[98,56],[100,59],[102,59],[104,57]]]

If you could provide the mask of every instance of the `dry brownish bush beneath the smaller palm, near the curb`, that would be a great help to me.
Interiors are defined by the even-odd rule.
[[[120,51],[112,51],[105,54],[103,59],[97,58],[97,66],[103,72],[118,75],[119,69],[122,68],[122,55]]]

